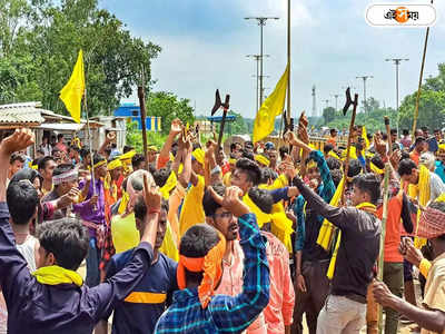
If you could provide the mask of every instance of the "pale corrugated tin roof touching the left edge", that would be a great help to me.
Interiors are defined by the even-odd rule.
[[[44,121],[38,108],[39,102],[0,106],[0,125],[39,125]]]

